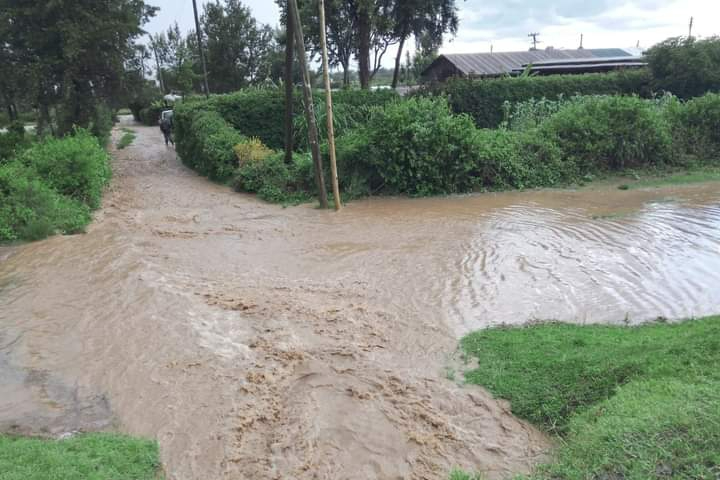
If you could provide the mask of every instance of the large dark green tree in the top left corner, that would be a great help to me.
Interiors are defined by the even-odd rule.
[[[58,111],[59,133],[97,124],[99,107],[122,92],[134,40],[156,8],[143,0],[3,0],[6,48],[33,71],[42,125]]]

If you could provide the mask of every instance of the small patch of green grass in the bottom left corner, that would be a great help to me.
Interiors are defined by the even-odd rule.
[[[0,435],[0,480],[157,480],[155,442],[94,433],[66,440]]]

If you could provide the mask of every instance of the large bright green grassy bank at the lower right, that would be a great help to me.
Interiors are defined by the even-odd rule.
[[[720,316],[468,335],[468,383],[561,438],[538,479],[717,479]],[[460,477],[458,477],[460,478]]]

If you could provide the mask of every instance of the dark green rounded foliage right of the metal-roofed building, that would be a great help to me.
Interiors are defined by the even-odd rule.
[[[669,38],[646,53],[656,90],[689,99],[720,91],[720,37]]]

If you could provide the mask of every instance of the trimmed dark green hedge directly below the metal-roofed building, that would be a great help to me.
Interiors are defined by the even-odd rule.
[[[467,113],[480,128],[495,128],[503,120],[503,104],[531,98],[560,96],[637,94],[651,95],[647,70],[628,70],[586,75],[507,77],[490,80],[453,79],[434,85],[420,95],[445,95],[455,113]]]

